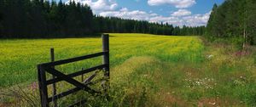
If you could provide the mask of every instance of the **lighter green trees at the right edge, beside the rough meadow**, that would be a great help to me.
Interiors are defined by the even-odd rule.
[[[256,44],[256,1],[225,0],[215,4],[207,24],[207,38],[224,38]]]

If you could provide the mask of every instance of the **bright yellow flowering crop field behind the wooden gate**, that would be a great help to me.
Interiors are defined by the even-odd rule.
[[[38,64],[49,62],[49,48],[55,59],[73,58],[102,51],[100,37],[63,39],[0,40],[0,87],[37,80]],[[165,37],[147,34],[110,34],[111,67],[136,56],[154,56],[165,61],[200,61],[203,46],[198,37]],[[67,67],[78,70],[100,64],[101,59]],[[79,66],[81,65],[81,66]]]

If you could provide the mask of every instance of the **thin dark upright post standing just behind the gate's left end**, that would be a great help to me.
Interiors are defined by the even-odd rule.
[[[50,61],[51,62],[55,61],[55,49],[54,48],[50,48]],[[52,67],[55,68],[55,66],[52,66]],[[52,75],[52,78],[55,79],[55,76]],[[54,102],[54,106],[57,107],[58,106],[57,100],[54,99],[55,98],[54,96],[57,94],[56,93],[56,84],[55,83],[52,84],[52,88],[53,88],[52,89],[52,91],[53,91],[52,92],[52,96],[53,96],[52,97],[52,101]]]

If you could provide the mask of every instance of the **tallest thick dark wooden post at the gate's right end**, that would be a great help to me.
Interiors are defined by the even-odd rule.
[[[102,63],[107,65],[103,70],[105,71],[105,76],[109,77],[109,35],[102,34],[102,51],[106,52],[103,55]]]

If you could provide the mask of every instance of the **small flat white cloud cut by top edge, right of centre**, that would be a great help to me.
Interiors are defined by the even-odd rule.
[[[195,4],[195,0],[148,0],[148,5],[158,6],[163,4],[171,4],[176,8],[189,8]]]

